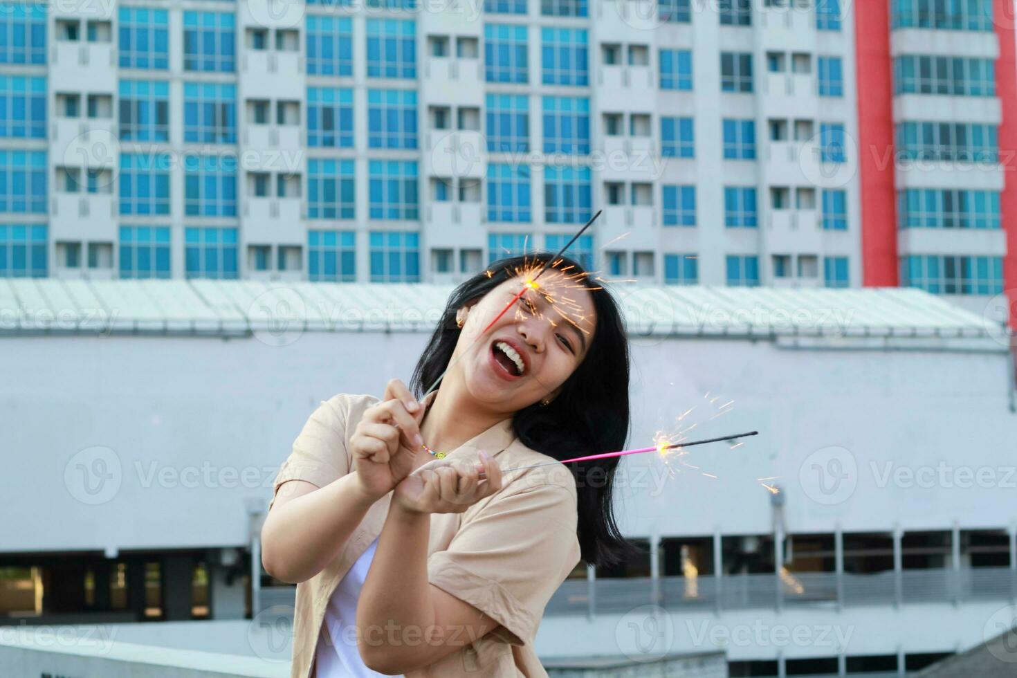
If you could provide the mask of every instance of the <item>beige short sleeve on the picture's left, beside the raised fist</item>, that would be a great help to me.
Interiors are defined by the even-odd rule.
[[[316,487],[324,487],[350,472],[346,449],[346,403],[344,395],[336,395],[322,400],[311,413],[293,441],[293,451],[276,475],[270,510],[279,486],[287,481],[303,480]]]

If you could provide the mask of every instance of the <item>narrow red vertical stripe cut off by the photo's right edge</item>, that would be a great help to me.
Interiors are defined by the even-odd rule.
[[[993,6],[996,36],[1000,40],[1000,60],[996,62],[996,96],[1003,105],[1000,125],[1000,153],[1003,160],[1003,194],[1000,213],[1007,234],[1007,254],[1003,258],[1003,287],[1010,295],[1010,326],[1017,329],[1017,48],[1014,45],[1013,0],[996,0]]]

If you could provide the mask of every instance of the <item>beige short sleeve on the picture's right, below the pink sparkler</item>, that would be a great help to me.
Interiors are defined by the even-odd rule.
[[[464,520],[446,550],[431,554],[428,579],[495,619],[507,642],[530,643],[547,601],[580,560],[577,520],[575,493],[560,485],[496,497]]]

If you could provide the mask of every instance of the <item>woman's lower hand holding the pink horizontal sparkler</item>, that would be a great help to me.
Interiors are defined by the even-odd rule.
[[[404,478],[393,501],[417,513],[462,513],[484,497],[501,489],[501,470],[481,452],[479,464],[459,459],[435,459]],[[481,477],[486,473],[486,479]]]

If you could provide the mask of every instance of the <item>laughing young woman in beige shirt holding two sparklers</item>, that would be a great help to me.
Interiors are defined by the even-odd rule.
[[[453,292],[411,381],[420,394],[448,368],[436,391],[336,395],[297,437],[261,533],[265,569],[298,583],[293,678],[546,676],[532,643],[548,599],[581,558],[629,553],[617,458],[501,471],[629,433],[623,323],[576,261],[487,328],[543,261]]]

